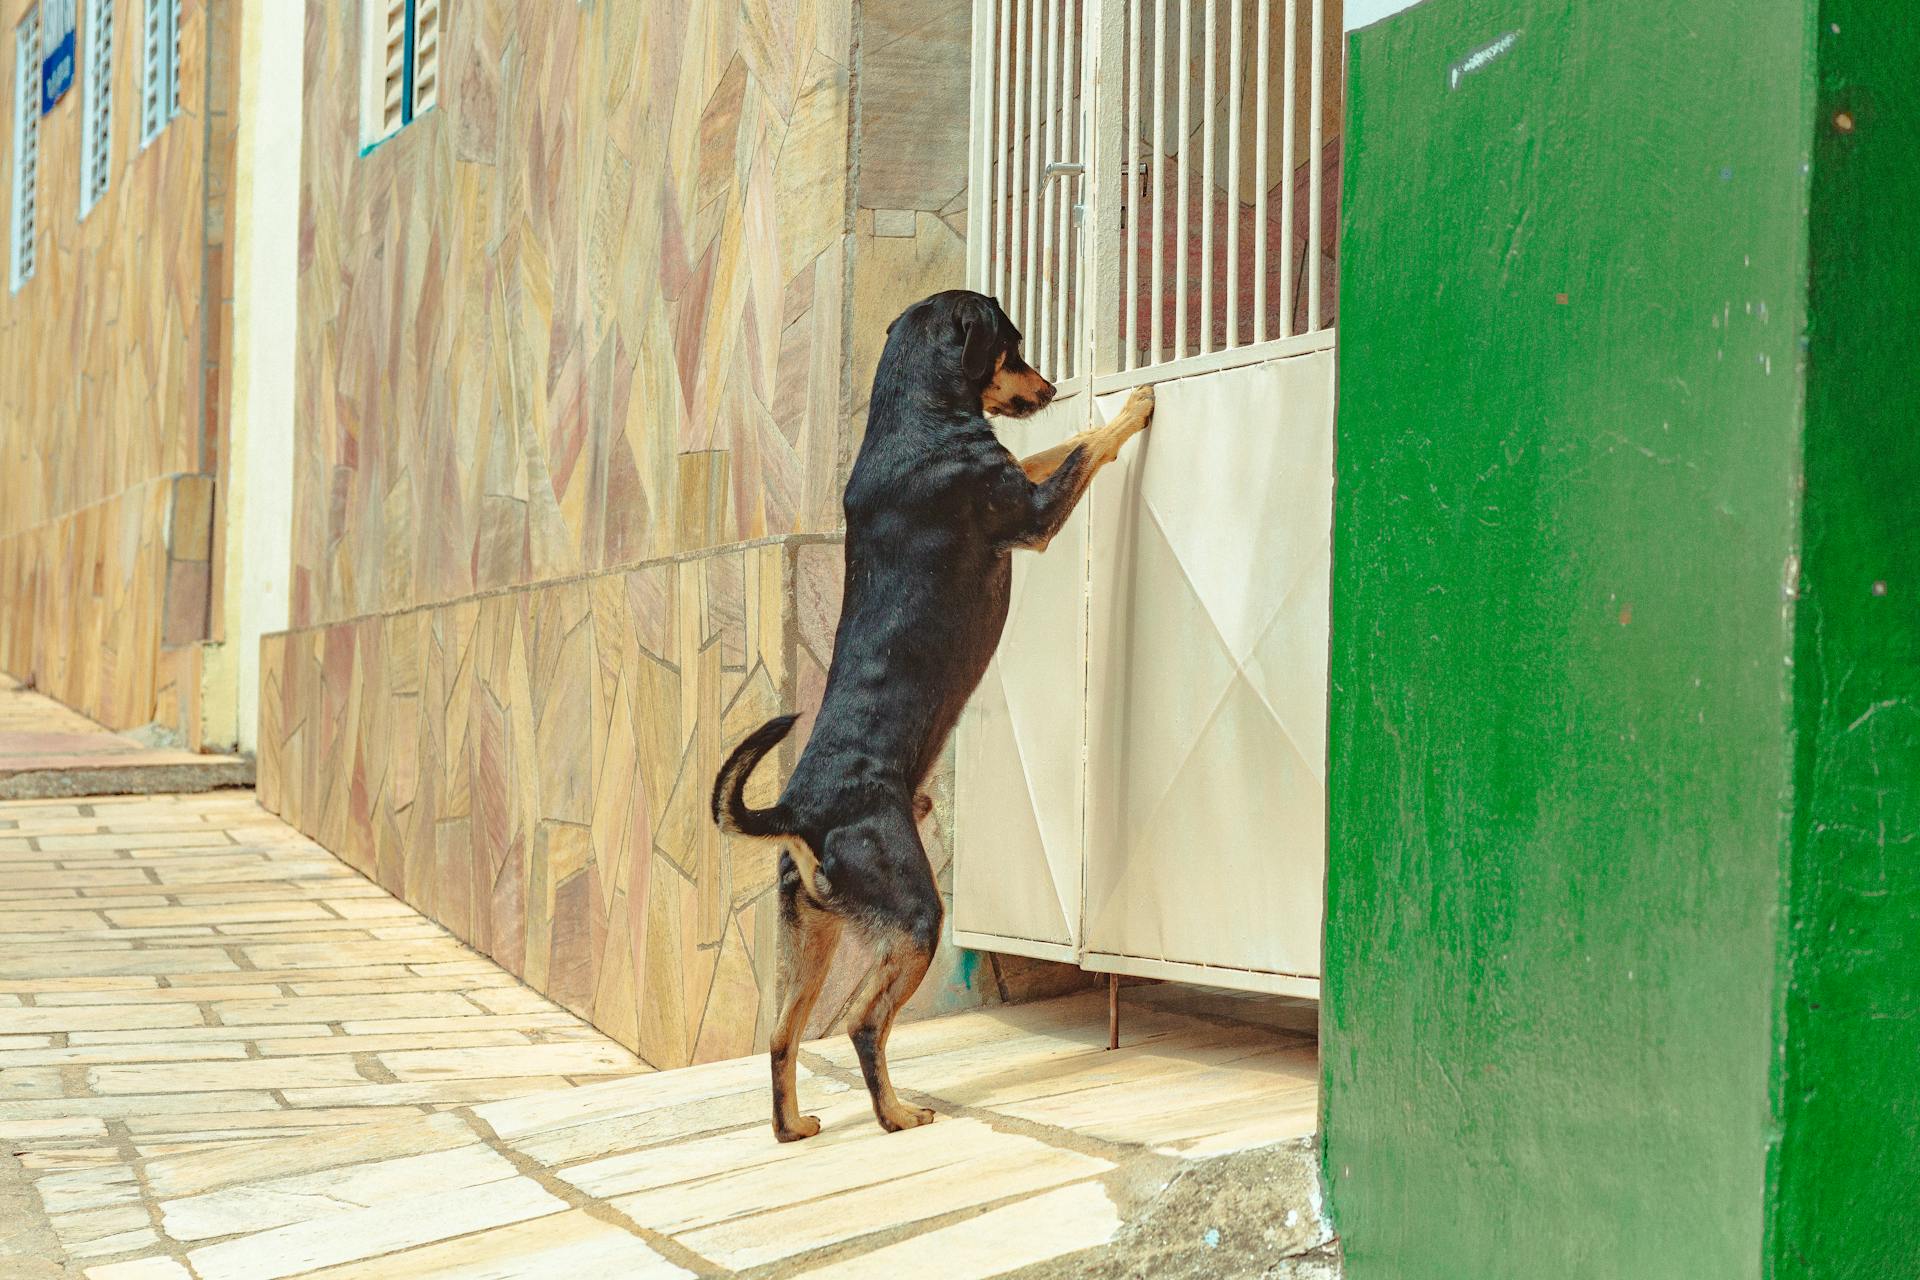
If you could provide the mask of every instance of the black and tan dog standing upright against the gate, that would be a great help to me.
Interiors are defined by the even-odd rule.
[[[887,1130],[933,1119],[887,1079],[887,1032],[941,933],[941,894],[916,831],[927,806],[920,789],[1000,643],[1012,553],[1044,549],[1154,411],[1140,388],[1108,426],[1014,459],[987,415],[1023,418],[1052,397],[991,297],[956,290],[900,313],[847,480],[847,589],[820,718],[772,808],[751,808],[743,789],[793,716],[755,729],[714,779],[714,821],[781,846],[783,994],[772,1038],[781,1142],[820,1132],[795,1103],[795,1052],[849,923],[876,954],[847,1025],[874,1115]]]

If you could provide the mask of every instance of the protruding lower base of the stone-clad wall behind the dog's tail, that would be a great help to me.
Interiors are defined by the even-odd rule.
[[[261,800],[655,1067],[764,1048],[774,865],[707,798],[732,743],[818,704],[839,578],[837,545],[781,539],[269,637]],[[948,950],[910,1015],[1064,977]]]

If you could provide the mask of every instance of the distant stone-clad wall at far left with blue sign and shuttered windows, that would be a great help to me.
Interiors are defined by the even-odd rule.
[[[27,4],[0,0],[6,190]],[[40,117],[35,276],[0,290],[0,670],[111,727],[161,720],[194,737],[198,687],[179,677],[198,670],[186,649],[207,637],[219,576],[236,6],[182,2],[180,115],[146,146],[142,13],[142,0],[113,0],[106,196],[79,215],[77,75]],[[180,522],[186,478],[200,514]]]

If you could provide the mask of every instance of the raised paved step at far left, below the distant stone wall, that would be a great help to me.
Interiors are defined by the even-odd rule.
[[[146,747],[0,672],[0,800],[250,787],[240,756]]]

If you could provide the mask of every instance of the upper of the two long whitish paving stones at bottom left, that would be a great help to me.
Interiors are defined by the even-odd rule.
[[[417,1196],[422,1188],[451,1192],[513,1176],[515,1169],[503,1155],[474,1142],[169,1199],[159,1207],[159,1226],[175,1240],[192,1244],[371,1209]]]

